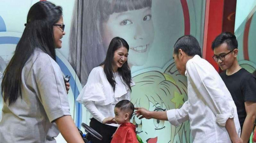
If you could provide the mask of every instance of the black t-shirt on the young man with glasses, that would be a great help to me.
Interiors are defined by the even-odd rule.
[[[229,76],[226,75],[226,71],[224,71],[220,76],[236,104],[238,118],[242,129],[246,118],[244,102],[256,102],[256,77],[244,68],[241,68],[238,72]]]

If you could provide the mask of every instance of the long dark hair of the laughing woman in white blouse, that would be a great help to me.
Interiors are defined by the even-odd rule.
[[[115,91],[115,80],[114,80],[114,74],[113,74],[113,68],[112,68],[112,62],[114,58],[114,52],[119,49],[120,47],[125,47],[129,51],[129,45],[128,43],[120,38],[120,37],[114,37],[110,44],[109,49],[107,49],[107,55],[104,62],[102,62],[100,65],[104,65],[104,73],[107,76],[107,80],[109,81],[110,85],[113,87]],[[118,74],[122,76],[122,80],[125,82],[125,84],[130,88],[131,90],[131,70],[128,66],[128,62],[126,61],[122,67],[117,69]]]

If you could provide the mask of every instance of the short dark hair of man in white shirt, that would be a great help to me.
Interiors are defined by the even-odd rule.
[[[195,37],[184,35],[180,37],[174,44],[174,54],[178,54],[179,49],[184,51],[188,56],[199,55],[202,57],[201,48]]]

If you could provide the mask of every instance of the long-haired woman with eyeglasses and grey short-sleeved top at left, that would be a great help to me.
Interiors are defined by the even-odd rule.
[[[84,143],[69,112],[55,49],[65,35],[62,8],[35,3],[2,80],[1,143]]]

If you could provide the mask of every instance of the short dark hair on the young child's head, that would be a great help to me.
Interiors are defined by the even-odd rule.
[[[119,108],[120,111],[125,111],[129,113],[129,119],[132,119],[132,114],[134,112],[134,105],[129,100],[119,101],[115,107]]]

